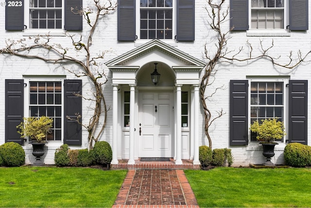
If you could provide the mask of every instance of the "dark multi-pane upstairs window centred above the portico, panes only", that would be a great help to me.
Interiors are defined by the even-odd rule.
[[[140,0],[140,39],[172,39],[173,0]]]

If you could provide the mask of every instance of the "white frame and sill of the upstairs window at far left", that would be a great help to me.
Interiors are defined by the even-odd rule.
[[[65,0],[62,0],[62,28],[61,29],[32,29],[30,28],[30,0],[25,0],[24,2],[24,25],[27,26],[27,29],[24,29],[26,35],[50,35],[56,36],[65,36],[64,35],[64,24],[65,24]]]

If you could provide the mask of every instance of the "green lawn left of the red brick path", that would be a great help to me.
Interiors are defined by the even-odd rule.
[[[112,207],[127,171],[0,168],[0,207]]]

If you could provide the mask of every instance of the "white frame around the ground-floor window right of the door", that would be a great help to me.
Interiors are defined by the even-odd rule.
[[[285,133],[288,134],[288,83],[289,78],[283,77],[283,78],[249,78],[248,79],[248,118],[247,123],[248,127],[250,127],[251,124],[251,82],[283,82],[283,121],[284,121],[284,127],[285,127]],[[285,144],[287,141],[287,135],[284,135],[283,141],[277,141],[277,143]],[[248,142],[249,144],[258,144],[258,141],[251,141],[251,131],[248,129]]]

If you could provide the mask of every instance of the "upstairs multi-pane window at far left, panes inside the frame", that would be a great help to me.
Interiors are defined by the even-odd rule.
[[[30,28],[62,29],[62,0],[30,0]]]

